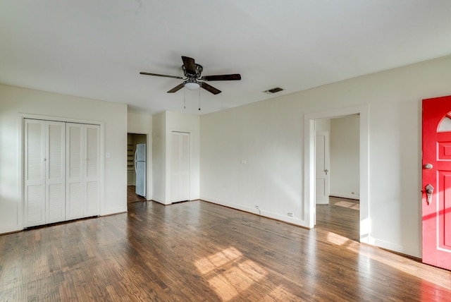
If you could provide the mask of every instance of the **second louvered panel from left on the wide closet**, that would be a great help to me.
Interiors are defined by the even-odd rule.
[[[46,122],[46,223],[66,219],[66,123]]]

